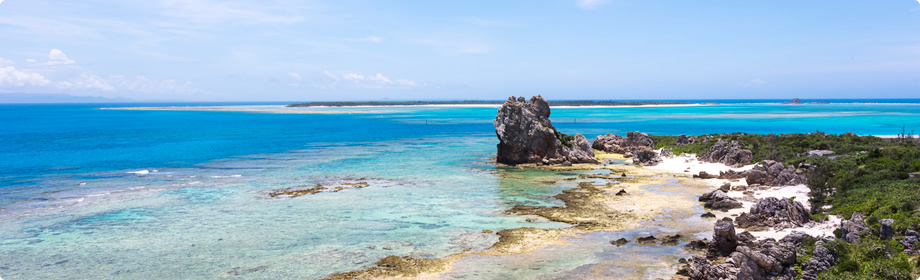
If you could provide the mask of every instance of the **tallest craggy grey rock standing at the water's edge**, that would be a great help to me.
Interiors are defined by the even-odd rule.
[[[495,116],[495,134],[499,163],[598,163],[584,136],[565,135],[553,127],[549,103],[539,95],[530,101],[509,97]]]

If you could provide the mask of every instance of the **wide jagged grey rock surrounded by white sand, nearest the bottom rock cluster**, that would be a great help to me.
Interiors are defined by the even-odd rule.
[[[802,203],[768,197],[751,206],[750,213],[742,213],[735,221],[741,228],[783,230],[808,223],[811,215]]]

